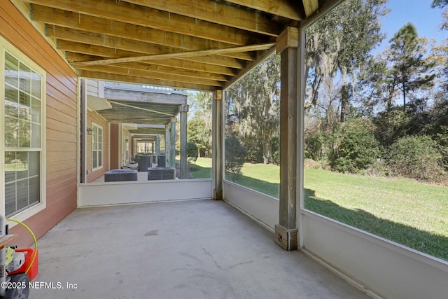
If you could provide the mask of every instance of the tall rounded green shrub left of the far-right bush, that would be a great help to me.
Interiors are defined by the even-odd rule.
[[[339,134],[337,146],[330,155],[330,166],[337,172],[362,173],[380,156],[379,142],[374,137],[370,120],[348,120]]]

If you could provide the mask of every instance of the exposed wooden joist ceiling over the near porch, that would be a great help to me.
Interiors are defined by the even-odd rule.
[[[79,76],[223,89],[331,0],[11,0]]]

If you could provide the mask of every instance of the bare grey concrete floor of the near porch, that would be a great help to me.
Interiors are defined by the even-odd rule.
[[[29,298],[369,298],[222,201],[76,209],[38,249]]]

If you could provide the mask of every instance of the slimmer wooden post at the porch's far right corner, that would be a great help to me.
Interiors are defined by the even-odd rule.
[[[213,171],[214,200],[223,199],[223,90],[216,90],[213,95]]]

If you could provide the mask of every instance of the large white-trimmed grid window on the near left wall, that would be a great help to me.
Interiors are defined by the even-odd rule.
[[[45,203],[45,71],[0,40],[4,215]],[[36,209],[37,212],[40,209]]]

